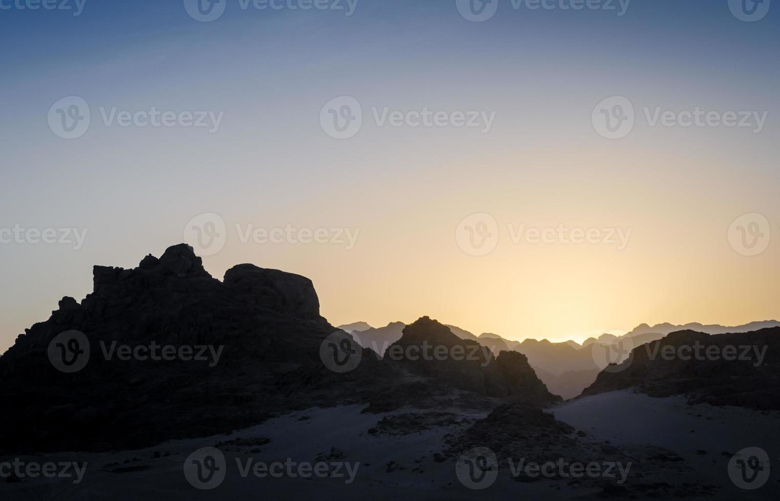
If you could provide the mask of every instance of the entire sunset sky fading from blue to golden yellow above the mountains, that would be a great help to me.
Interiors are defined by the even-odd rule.
[[[36,5],[0,0],[0,348],[180,242],[333,325],[780,318],[780,5]]]

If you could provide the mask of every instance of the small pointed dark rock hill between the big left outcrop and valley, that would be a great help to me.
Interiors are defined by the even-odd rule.
[[[457,337],[449,326],[427,316],[406,326],[401,339],[385,352],[383,362],[488,397],[512,397],[529,404],[561,400],[548,392],[525,355],[502,351],[496,358],[488,347]]]

